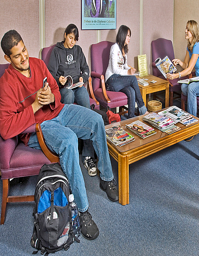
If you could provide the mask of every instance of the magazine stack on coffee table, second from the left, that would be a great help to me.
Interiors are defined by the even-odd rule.
[[[142,139],[145,139],[153,134],[156,134],[156,131],[154,131],[154,128],[150,127],[149,125],[144,124],[143,122],[137,120],[130,124],[126,125],[127,128],[130,129],[130,131],[133,131],[135,134],[137,134]]]

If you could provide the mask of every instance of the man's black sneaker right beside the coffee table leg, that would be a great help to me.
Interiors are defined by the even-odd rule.
[[[104,181],[104,180],[100,179],[100,188],[103,191],[106,191],[107,197],[111,201],[119,200],[118,189],[116,187],[116,182],[114,179],[111,181]]]

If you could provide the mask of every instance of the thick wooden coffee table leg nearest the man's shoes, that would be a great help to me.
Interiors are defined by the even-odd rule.
[[[119,203],[129,204],[129,157],[118,155]]]

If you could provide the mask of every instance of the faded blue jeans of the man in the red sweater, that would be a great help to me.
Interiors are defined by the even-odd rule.
[[[41,129],[48,147],[59,155],[61,167],[69,179],[79,211],[85,212],[88,209],[88,199],[79,165],[78,138],[92,140],[98,156],[101,179],[113,179],[101,115],[79,105],[65,105],[58,116],[42,122]],[[36,133],[31,134],[28,145],[40,149]]]

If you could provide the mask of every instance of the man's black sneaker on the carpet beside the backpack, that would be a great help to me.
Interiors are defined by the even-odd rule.
[[[86,212],[79,212],[79,216],[82,236],[88,240],[97,238],[99,230],[88,210]]]

